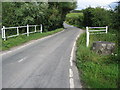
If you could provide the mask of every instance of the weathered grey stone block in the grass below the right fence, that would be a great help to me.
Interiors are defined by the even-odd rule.
[[[114,53],[115,43],[106,41],[96,41],[93,43],[92,50],[98,54],[110,55]]]

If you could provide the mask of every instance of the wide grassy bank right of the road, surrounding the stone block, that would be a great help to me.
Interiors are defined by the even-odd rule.
[[[117,88],[118,57],[116,55],[98,55],[91,51],[93,41],[110,41],[117,45],[115,34],[90,35],[90,47],[86,47],[86,34],[77,40],[77,67],[80,78],[86,88]],[[116,51],[117,54],[117,46]]]

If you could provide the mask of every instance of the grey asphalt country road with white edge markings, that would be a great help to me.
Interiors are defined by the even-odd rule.
[[[2,88],[80,88],[70,57],[76,37],[83,31],[64,26],[66,29],[58,34],[3,54]]]

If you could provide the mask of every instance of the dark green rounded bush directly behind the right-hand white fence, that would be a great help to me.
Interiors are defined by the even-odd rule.
[[[83,10],[84,26],[108,26],[110,24],[110,12],[101,7],[88,7]]]

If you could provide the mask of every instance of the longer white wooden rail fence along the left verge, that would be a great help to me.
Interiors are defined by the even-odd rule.
[[[37,31],[37,27],[38,27],[38,26],[40,27],[40,28],[39,28],[39,32],[42,33],[42,24],[41,24],[41,25],[28,25],[28,24],[27,24],[27,26],[17,26],[17,27],[5,27],[5,26],[3,26],[3,28],[1,29],[1,31],[2,31],[2,39],[5,41],[7,38],[11,38],[11,37],[19,36],[19,35],[25,35],[25,34],[26,34],[27,36],[29,36],[30,33],[36,33],[36,32],[38,32],[38,31]],[[29,28],[30,28],[30,27],[35,27],[35,30],[32,31],[32,32],[30,32],[30,31],[29,31]],[[20,29],[20,28],[26,28],[26,29],[27,29],[27,32],[20,34],[20,33],[19,33],[19,29]],[[7,29],[16,29],[16,30],[17,30],[16,35],[6,36],[6,30],[7,30]]]

